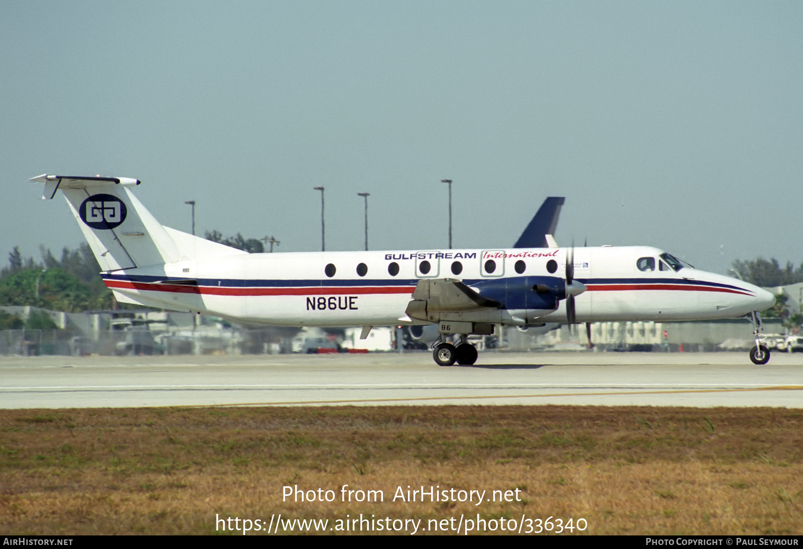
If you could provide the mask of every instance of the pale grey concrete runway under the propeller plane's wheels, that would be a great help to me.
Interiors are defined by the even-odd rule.
[[[0,408],[209,405],[656,405],[803,408],[803,354],[429,352],[0,357]]]

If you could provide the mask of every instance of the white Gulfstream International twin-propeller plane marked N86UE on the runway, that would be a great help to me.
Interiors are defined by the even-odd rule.
[[[648,246],[248,254],[162,226],[126,177],[41,175],[59,190],[116,299],[283,326],[438,326],[443,366],[474,364],[469,334],[496,324],[726,319],[751,315],[756,364],[766,364],[759,287],[684,264]]]

